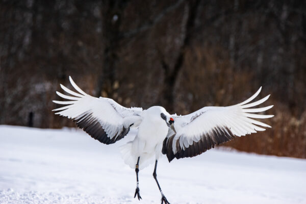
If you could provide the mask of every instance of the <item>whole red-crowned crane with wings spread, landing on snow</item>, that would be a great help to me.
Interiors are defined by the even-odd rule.
[[[215,145],[234,139],[236,136],[264,131],[271,127],[257,118],[270,118],[273,115],[255,114],[273,106],[253,108],[269,98],[269,95],[250,103],[256,98],[261,88],[240,104],[228,107],[204,107],[189,115],[170,115],[163,107],[125,108],[113,99],[93,97],[82,91],[69,77],[77,92],[61,85],[71,96],[56,92],[66,101],[53,102],[64,107],[55,109],[56,114],[73,119],[77,125],[91,137],[105,144],[112,144],[122,139],[130,128],[138,129],[133,141],[123,145],[121,155],[126,164],[136,169],[138,199],[138,169],[156,161],[165,154],[169,162],[176,158],[193,157]],[[255,119],[253,119],[255,118]],[[159,184],[158,184],[159,186]],[[159,186],[160,188],[160,186]],[[161,189],[160,189],[161,191]],[[162,193],[162,203],[169,203]]]

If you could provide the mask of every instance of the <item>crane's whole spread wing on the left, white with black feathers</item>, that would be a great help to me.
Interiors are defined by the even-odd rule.
[[[53,100],[56,104],[67,105],[53,111],[55,114],[73,119],[77,125],[92,138],[112,144],[122,139],[130,127],[137,126],[141,120],[142,108],[125,108],[113,99],[93,97],[82,91],[69,77],[74,92],[61,85],[61,88],[72,96],[56,92],[67,101]]]

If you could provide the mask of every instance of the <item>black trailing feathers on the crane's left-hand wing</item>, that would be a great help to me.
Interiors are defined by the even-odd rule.
[[[83,129],[92,138],[104,144],[112,144],[122,139],[127,133],[129,133],[130,126],[133,125],[131,124],[128,127],[123,126],[122,130],[120,132],[118,131],[117,134],[111,139],[108,137],[97,118],[92,116],[91,112],[86,112],[82,117],[74,119],[73,121],[75,121],[78,127]]]

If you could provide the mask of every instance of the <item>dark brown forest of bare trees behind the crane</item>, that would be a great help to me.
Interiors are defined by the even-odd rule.
[[[226,145],[306,158],[304,1],[0,0],[0,124],[74,126],[51,111],[69,75],[94,96],[177,114],[263,86],[272,129]]]

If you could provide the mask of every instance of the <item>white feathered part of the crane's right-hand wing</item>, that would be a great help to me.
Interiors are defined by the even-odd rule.
[[[176,148],[177,140],[179,140],[180,147],[185,150],[194,142],[198,142],[203,135],[208,137],[209,135],[214,135],[213,132],[215,132],[217,135],[228,135],[230,133],[228,133],[227,129],[229,129],[233,135],[240,137],[245,136],[246,134],[265,130],[258,125],[271,127],[270,125],[252,118],[270,118],[273,117],[273,115],[259,115],[252,113],[266,111],[273,106],[247,109],[260,105],[269,98],[270,95],[254,103],[247,104],[256,98],[260,91],[261,88],[249,99],[234,106],[204,107],[189,115],[172,115],[175,121],[174,127],[176,130],[176,135],[174,136],[172,142],[173,154],[176,154],[176,152],[179,150]],[[215,130],[215,128],[217,130]]]

